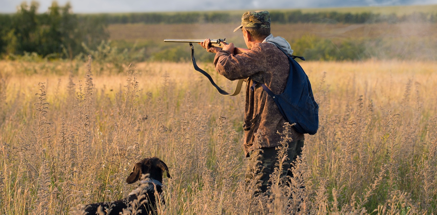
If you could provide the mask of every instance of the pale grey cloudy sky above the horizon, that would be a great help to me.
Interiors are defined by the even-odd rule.
[[[39,11],[52,0],[37,0]],[[437,0],[69,0],[74,13],[297,9],[437,4]],[[23,0],[0,0],[0,13],[14,13]],[[28,0],[28,3],[30,1]],[[64,5],[67,0],[58,0]]]

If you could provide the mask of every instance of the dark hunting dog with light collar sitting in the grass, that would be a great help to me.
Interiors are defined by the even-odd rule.
[[[157,157],[148,157],[134,165],[126,178],[128,184],[140,181],[128,197],[110,202],[99,202],[85,206],[85,215],[119,215],[135,211],[138,215],[156,214],[156,197],[162,193],[163,172],[171,178],[167,165]],[[163,202],[165,204],[165,202]]]

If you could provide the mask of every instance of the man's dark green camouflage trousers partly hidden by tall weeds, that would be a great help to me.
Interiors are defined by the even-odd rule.
[[[296,160],[298,156],[302,156],[302,147],[304,140],[296,140],[288,144],[288,162],[283,168],[282,176],[288,175],[293,177],[293,173],[288,169],[291,169],[293,161]],[[262,151],[254,150],[250,152],[249,164],[247,165],[246,171],[246,184],[250,181],[255,180],[260,181],[255,185],[254,193],[266,192],[267,187],[271,185],[269,182],[270,174],[273,173],[275,164],[277,162],[276,147],[262,147]]]

